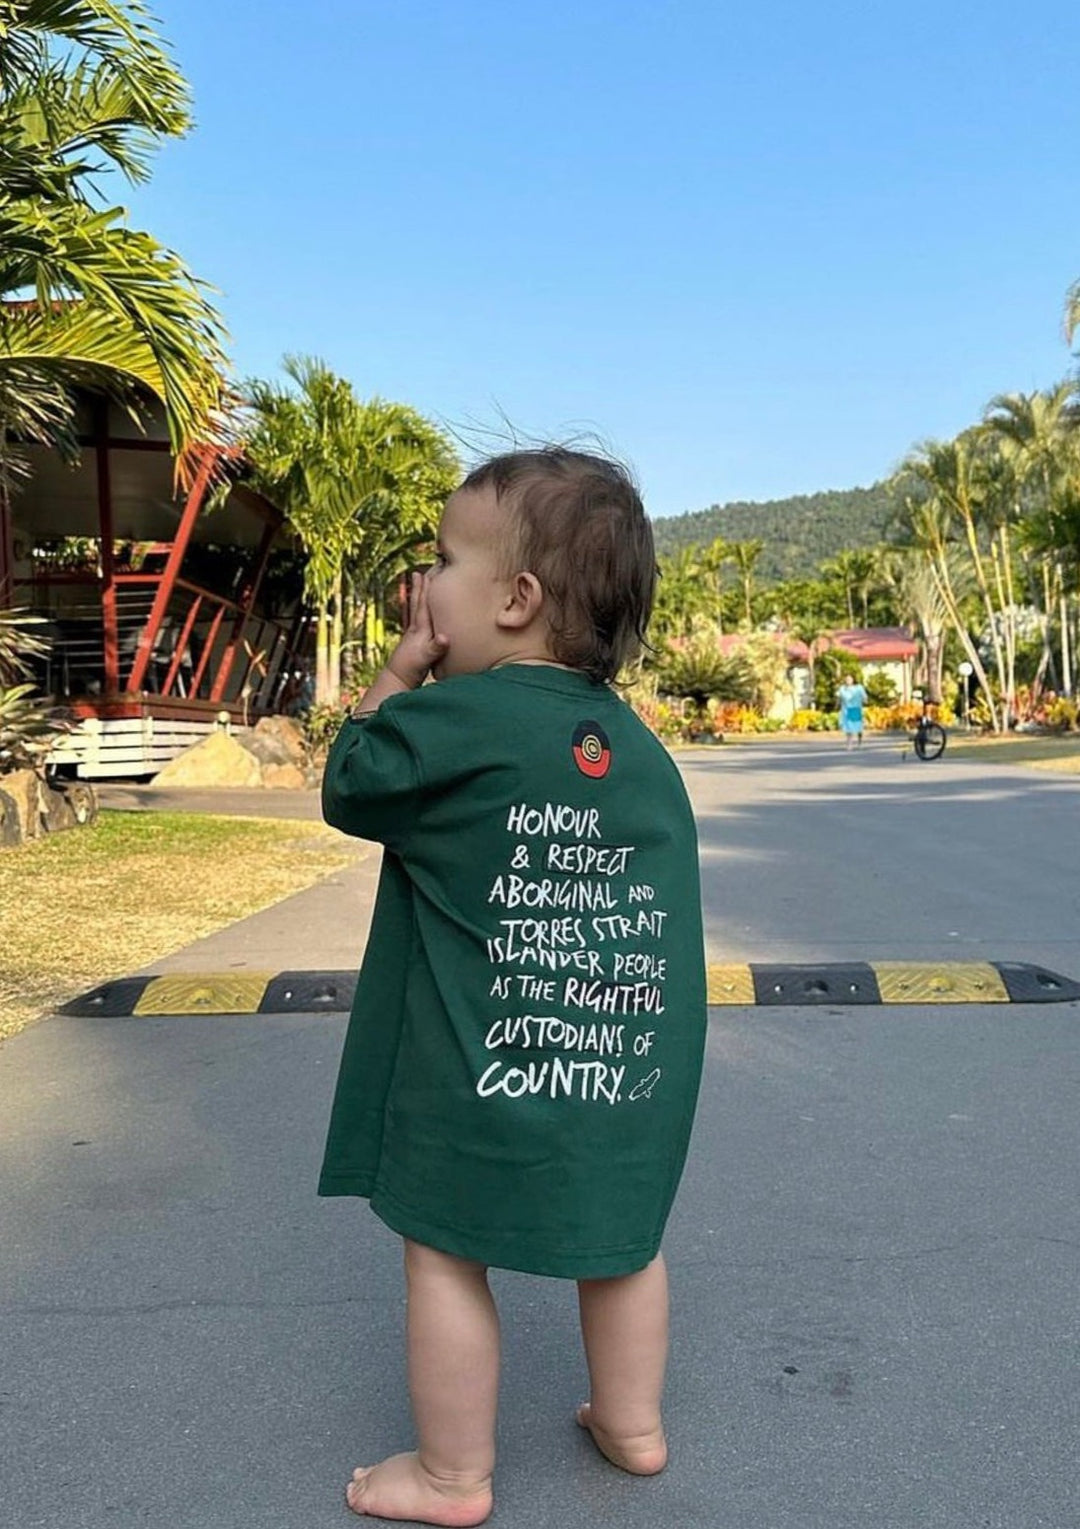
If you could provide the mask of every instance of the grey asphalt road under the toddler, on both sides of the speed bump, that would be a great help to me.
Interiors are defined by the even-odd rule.
[[[1080,783],[684,755],[714,960],[1080,977]],[[44,1021],[0,1050],[12,1529],[332,1529],[408,1442],[398,1251],[314,1179],[335,1015]],[[571,1422],[574,1292],[496,1275],[508,1529],[1074,1529],[1080,1005],[716,1009],[670,1225],[672,1465]]]

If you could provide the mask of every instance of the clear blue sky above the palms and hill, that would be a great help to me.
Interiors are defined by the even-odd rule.
[[[592,433],[678,514],[870,483],[1075,365],[1075,0],[155,9],[197,127],[112,194],[240,375]]]

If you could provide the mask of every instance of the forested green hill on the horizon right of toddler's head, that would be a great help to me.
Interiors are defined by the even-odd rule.
[[[828,489],[763,503],[711,505],[687,515],[653,521],[658,552],[678,552],[716,537],[725,541],[765,543],[757,564],[762,584],[812,578],[820,564],[844,547],[869,547],[889,540],[895,498],[887,483],[870,488]]]

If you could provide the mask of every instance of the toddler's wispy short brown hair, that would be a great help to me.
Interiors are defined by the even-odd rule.
[[[482,462],[462,489],[483,488],[512,517],[503,570],[543,587],[552,657],[597,683],[615,679],[646,641],[656,590],[653,532],[627,469],[543,446]]]

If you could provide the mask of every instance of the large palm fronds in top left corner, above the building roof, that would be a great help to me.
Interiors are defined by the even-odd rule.
[[[102,206],[190,127],[142,0],[9,0],[0,24],[0,443],[72,445],[70,390],[165,405],[177,456],[222,437],[223,330],[205,289]],[[9,465],[11,468],[11,465]]]

